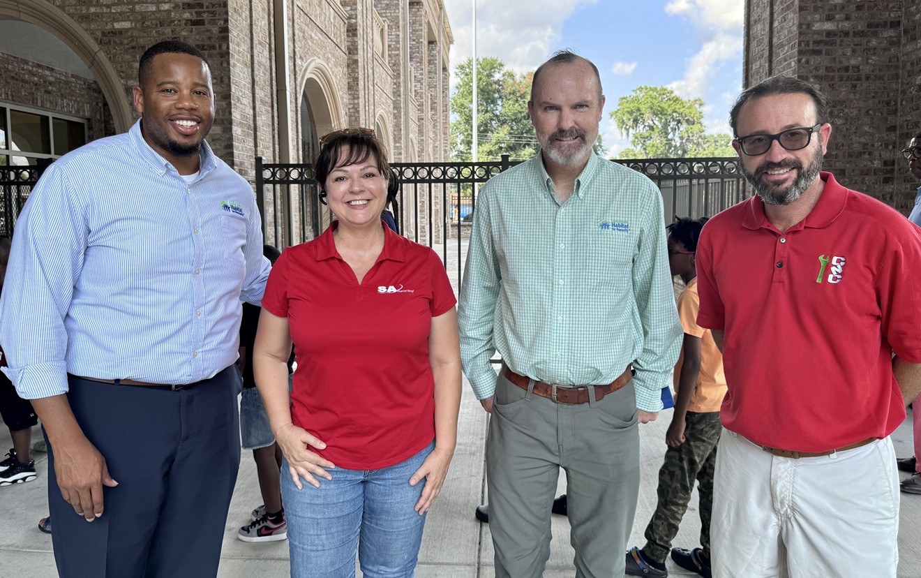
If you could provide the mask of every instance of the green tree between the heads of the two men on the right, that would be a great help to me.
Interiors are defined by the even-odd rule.
[[[704,100],[682,99],[671,88],[638,87],[617,101],[611,113],[632,148],[623,159],[729,157],[729,135],[706,135]]]

